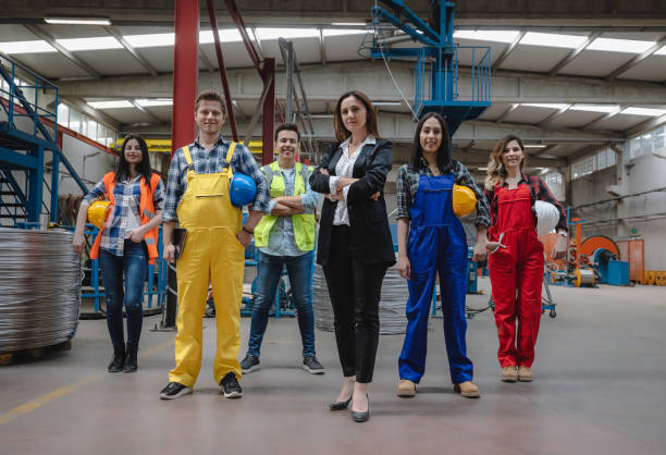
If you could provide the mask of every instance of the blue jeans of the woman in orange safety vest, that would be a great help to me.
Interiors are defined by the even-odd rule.
[[[144,322],[144,284],[148,273],[146,244],[125,239],[123,256],[99,251],[102,283],[107,294],[107,325],[113,347],[125,345],[123,304],[127,313],[127,344],[138,347]],[[125,275],[123,290],[123,273]]]

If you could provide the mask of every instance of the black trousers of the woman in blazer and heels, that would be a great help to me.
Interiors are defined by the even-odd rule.
[[[347,225],[333,226],[329,263],[323,267],[331,304],[337,354],[345,377],[372,382],[379,344],[379,302],[384,263],[362,263],[349,255]]]

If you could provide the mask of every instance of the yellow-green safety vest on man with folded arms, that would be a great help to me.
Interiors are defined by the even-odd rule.
[[[261,168],[263,173],[267,175],[269,187],[271,188],[271,198],[275,198],[284,195],[285,184],[280,165],[278,161],[273,161],[269,165]],[[296,175],[294,177],[294,196],[305,194],[306,180],[310,176],[312,168],[309,165],[303,165],[296,163]],[[278,221],[278,217],[272,214],[264,214],[259,221],[259,224],[255,228],[255,246],[258,248],[268,246],[271,229]],[[294,224],[294,237],[296,238],[296,246],[301,251],[311,251],[314,249],[314,214],[313,213],[298,213],[292,216],[292,223]]]

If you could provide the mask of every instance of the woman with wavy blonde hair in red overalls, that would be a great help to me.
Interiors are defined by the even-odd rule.
[[[522,173],[523,165],[522,142],[514,135],[505,136],[491,152],[485,179],[484,193],[491,205],[488,267],[504,382],[533,380],[544,266],[543,244],[536,236],[535,200],[551,202],[559,210],[553,258],[563,258],[567,248],[567,218],[562,206],[541,179]]]

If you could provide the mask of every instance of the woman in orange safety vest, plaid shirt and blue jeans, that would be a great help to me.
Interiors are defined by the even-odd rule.
[[[122,150],[115,172],[104,175],[81,202],[73,241],[74,250],[81,254],[88,206],[111,188],[110,199],[113,204],[100,238],[96,242],[97,246],[90,251],[90,257],[95,258],[94,251],[99,249],[99,265],[107,295],[107,325],[113,344],[109,372],[133,372],[137,369],[136,357],[144,320],[144,284],[148,262],[157,257],[153,247],[157,247],[157,229],[162,222],[164,200],[164,185],[150,168],[148,146],[144,138],[127,136]],[[144,199],[150,200],[141,200],[143,194]],[[145,208],[145,213],[141,213],[139,207]],[[148,248],[147,244],[151,247]],[[155,257],[149,257],[150,250],[155,251]],[[123,304],[127,312],[126,346]]]

